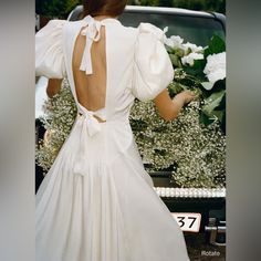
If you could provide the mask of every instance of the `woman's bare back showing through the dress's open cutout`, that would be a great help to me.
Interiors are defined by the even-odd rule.
[[[92,74],[87,75],[84,71],[80,70],[85,43],[86,41],[91,41],[85,35],[82,35],[81,32],[76,36],[72,58],[77,102],[86,109],[93,112],[105,108],[106,104],[107,66],[105,27],[101,27],[100,33],[101,39],[97,42],[93,41],[91,48]]]

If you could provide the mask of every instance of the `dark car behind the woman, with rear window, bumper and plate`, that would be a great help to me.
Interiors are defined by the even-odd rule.
[[[83,15],[83,7],[77,6],[67,20],[76,21]],[[150,22],[160,29],[168,27],[167,35],[179,35],[185,42],[206,46],[213,34],[226,39],[226,17],[217,12],[191,11],[179,8],[127,6],[118,18],[126,27],[137,27]],[[46,98],[46,79],[36,83],[38,129],[42,115],[41,103]],[[39,170],[40,171],[40,170]],[[226,244],[226,188],[177,188],[170,173],[149,173],[155,190],[171,211],[185,233],[205,233],[215,246]],[[40,175],[41,176],[41,175]],[[41,179],[42,177],[40,177]],[[38,181],[38,186],[41,181]]]

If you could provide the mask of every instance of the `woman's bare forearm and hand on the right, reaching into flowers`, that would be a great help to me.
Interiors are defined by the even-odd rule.
[[[182,106],[192,101],[196,95],[190,91],[184,91],[177,94],[173,100],[168,91],[164,90],[159,93],[154,103],[158,109],[159,115],[167,122],[175,119],[180,113]]]

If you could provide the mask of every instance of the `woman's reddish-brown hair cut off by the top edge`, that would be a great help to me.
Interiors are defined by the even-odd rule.
[[[109,15],[118,17],[123,13],[128,0],[85,0],[83,1],[83,17]]]

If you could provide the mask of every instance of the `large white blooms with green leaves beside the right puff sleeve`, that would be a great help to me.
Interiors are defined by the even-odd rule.
[[[167,28],[164,29],[167,32]],[[171,59],[175,77],[171,95],[184,90],[195,91],[203,105],[200,122],[205,125],[219,121],[222,129],[226,125],[226,45],[218,35],[213,35],[208,46],[184,43],[177,35],[165,35],[166,49]]]

